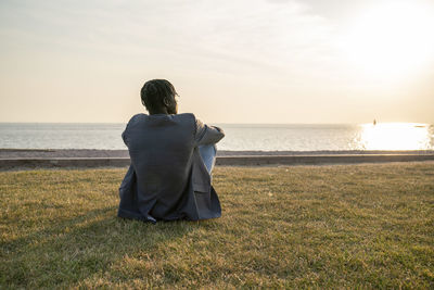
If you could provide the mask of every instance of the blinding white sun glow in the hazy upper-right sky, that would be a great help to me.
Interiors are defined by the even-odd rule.
[[[358,71],[398,80],[434,60],[434,11],[417,3],[376,5],[349,25],[344,51]]]

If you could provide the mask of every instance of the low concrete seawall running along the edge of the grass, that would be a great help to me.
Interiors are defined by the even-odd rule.
[[[434,154],[218,156],[216,165],[324,165],[418,161],[434,161]],[[129,164],[130,160],[128,157],[0,159],[0,169],[11,169],[20,167],[125,167]]]

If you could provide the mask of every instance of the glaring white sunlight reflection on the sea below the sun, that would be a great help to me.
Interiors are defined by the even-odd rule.
[[[355,140],[363,150],[425,150],[432,148],[430,126],[417,123],[382,123],[360,125]]]

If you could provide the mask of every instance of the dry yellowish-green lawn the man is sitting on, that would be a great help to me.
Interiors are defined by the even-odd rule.
[[[126,168],[0,173],[0,288],[434,288],[434,163],[216,167],[222,217],[116,217]]]

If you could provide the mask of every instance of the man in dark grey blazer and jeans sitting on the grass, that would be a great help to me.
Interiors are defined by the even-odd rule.
[[[123,133],[131,165],[119,188],[118,216],[152,223],[219,217],[210,172],[224,131],[177,114],[178,93],[168,80],[149,80],[140,94],[149,115],[132,116]]]

